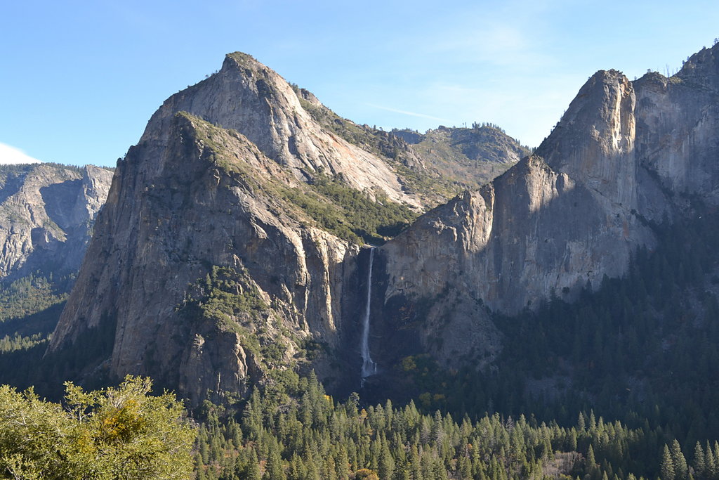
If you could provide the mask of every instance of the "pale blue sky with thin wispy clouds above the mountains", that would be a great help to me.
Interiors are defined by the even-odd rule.
[[[717,1],[6,1],[0,157],[112,166],[235,50],[354,122],[536,146],[595,71],[671,73],[715,37]]]

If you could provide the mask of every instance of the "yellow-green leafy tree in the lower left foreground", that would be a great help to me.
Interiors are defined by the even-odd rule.
[[[117,388],[65,384],[65,408],[0,386],[0,478],[183,479],[196,436],[173,394],[150,379]]]

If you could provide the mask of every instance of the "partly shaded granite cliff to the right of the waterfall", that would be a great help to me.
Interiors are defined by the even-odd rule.
[[[454,306],[428,312],[417,327],[431,350],[427,339],[456,328],[454,313],[482,303],[513,314],[552,294],[572,299],[623,275],[633,250],[654,244],[649,225],[683,214],[686,196],[716,204],[718,55],[719,47],[702,50],[672,78],[651,73],[632,83],[597,72],[536,153],[380,248],[385,318],[452,292]],[[444,327],[432,327],[443,317]],[[482,312],[475,319],[486,322]],[[482,338],[472,347],[491,358],[498,334],[490,325]],[[450,365],[468,353],[434,350]]]

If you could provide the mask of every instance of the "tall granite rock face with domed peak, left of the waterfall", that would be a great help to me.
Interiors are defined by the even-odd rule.
[[[323,127],[320,109],[240,53],[165,101],[119,162],[49,355],[107,343],[88,368],[151,375],[197,403],[347,341],[359,245],[316,227],[308,212],[325,207],[298,192],[325,175],[383,201],[421,199],[388,158]],[[327,364],[313,368],[337,375]]]

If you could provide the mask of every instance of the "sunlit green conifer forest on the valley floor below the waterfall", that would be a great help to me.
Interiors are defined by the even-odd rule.
[[[713,479],[719,444],[687,461],[661,428],[630,428],[594,412],[574,425],[498,413],[455,420],[414,402],[336,402],[316,377],[285,372],[235,412],[206,401],[196,479]]]

